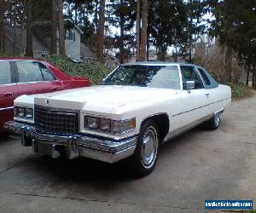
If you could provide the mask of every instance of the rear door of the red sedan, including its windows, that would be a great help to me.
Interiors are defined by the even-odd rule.
[[[32,95],[61,90],[61,82],[40,61],[16,60],[19,95]]]

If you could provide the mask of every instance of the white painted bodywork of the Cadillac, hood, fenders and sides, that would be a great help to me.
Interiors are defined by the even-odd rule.
[[[229,86],[214,89],[155,89],[137,86],[92,86],[69,89],[44,95],[23,95],[15,106],[54,107],[80,112],[81,133],[100,135],[114,140],[137,135],[146,118],[166,114],[169,118],[168,140],[176,131],[185,130],[215,112],[224,110],[231,101]],[[136,130],[124,135],[111,135],[94,130],[84,130],[84,115],[94,115],[115,120],[136,118]],[[19,118],[15,118],[19,121]],[[20,120],[23,121],[23,120]]]

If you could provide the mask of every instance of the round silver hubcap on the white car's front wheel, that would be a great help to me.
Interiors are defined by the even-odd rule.
[[[154,128],[150,127],[143,135],[142,159],[146,168],[154,164],[157,154],[158,140]]]

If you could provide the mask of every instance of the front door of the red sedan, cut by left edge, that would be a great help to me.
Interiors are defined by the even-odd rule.
[[[17,95],[13,63],[0,60],[0,130],[5,122],[14,118],[14,100]]]

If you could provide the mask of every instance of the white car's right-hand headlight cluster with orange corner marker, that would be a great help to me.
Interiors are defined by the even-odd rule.
[[[97,130],[109,132],[114,135],[122,135],[136,128],[136,119],[111,120],[107,118],[96,118],[84,116],[84,128],[87,130]]]

